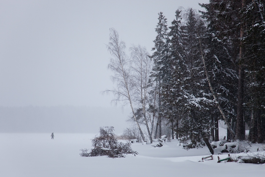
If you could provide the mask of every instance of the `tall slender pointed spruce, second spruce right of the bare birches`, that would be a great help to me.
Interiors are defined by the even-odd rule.
[[[182,78],[184,78],[184,73],[187,71],[185,68],[185,53],[183,45],[181,44],[181,10],[175,11],[176,19],[171,22],[172,26],[169,27],[170,32],[168,36],[169,40],[169,55],[168,55],[168,72],[167,80],[163,85],[163,115],[168,119],[168,123],[171,125],[172,138],[174,138],[174,129],[178,129],[178,122],[180,120],[180,110],[181,107],[178,105],[179,95]],[[180,101],[181,102],[181,101]],[[178,132],[178,130],[176,131]],[[178,135],[176,136],[178,138]]]

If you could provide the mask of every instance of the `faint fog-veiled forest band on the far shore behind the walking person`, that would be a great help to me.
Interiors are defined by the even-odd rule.
[[[113,126],[122,134],[128,109],[89,106],[0,106],[0,133],[98,133]],[[102,122],[101,120],[104,120]]]

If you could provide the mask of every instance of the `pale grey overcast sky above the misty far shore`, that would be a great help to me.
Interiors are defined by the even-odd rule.
[[[110,107],[109,29],[151,52],[158,13],[170,26],[198,2],[208,0],[0,1],[0,106]]]

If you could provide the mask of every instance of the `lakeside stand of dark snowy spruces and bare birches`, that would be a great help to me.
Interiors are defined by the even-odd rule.
[[[168,27],[160,12],[153,54],[140,45],[125,54],[115,29],[107,45],[116,101],[130,104],[143,141],[170,134],[185,148],[227,139],[265,140],[264,0],[210,0],[205,9],[179,8]],[[127,130],[128,131],[128,130]],[[174,136],[175,135],[175,136]]]

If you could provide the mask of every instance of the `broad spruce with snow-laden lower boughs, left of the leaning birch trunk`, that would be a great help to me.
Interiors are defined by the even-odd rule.
[[[205,27],[193,9],[189,9],[184,16],[185,23],[181,27],[183,30],[181,45],[185,57],[181,57],[182,59],[178,63],[182,67],[180,75],[178,75],[178,71],[175,71],[176,75],[180,76],[176,79],[176,86],[179,86],[179,90],[175,103],[181,117],[181,126],[177,131],[180,142],[186,144],[186,149],[207,145],[213,154],[213,148],[209,142],[211,113],[208,109],[208,106],[212,106],[213,101],[207,87],[198,40],[198,34],[202,35],[205,32]],[[184,61],[183,64],[182,61]]]

